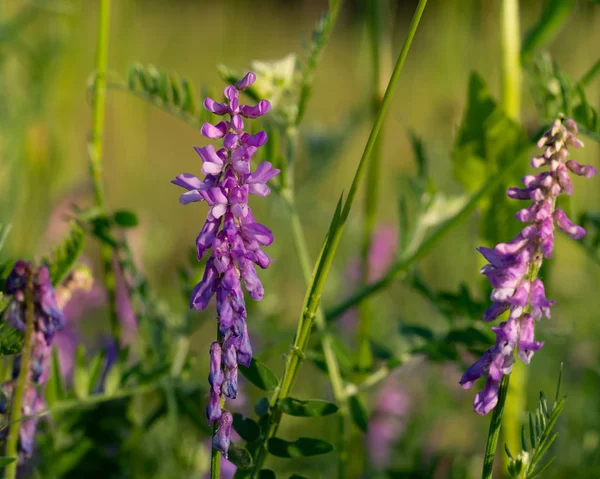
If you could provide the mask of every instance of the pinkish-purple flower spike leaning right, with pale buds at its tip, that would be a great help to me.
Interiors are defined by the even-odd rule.
[[[492,321],[505,311],[508,319],[492,328],[496,344],[460,380],[462,387],[469,389],[475,380],[487,375],[483,391],[475,395],[474,408],[478,414],[487,414],[496,407],[500,380],[512,371],[515,349],[519,358],[529,364],[533,353],[544,345],[534,340],[534,324],[536,319],[550,318],[554,301],[546,299],[544,283],[536,276],[543,258],[552,256],[555,224],[573,239],[585,235],[581,226],[574,225],[564,211],[556,208],[556,198],[561,193],[573,193],[569,171],[586,178],[596,174],[590,165],[567,160],[569,146],[583,146],[577,134],[577,125],[571,119],[553,123],[537,144],[539,148],[545,147],[544,153],[531,161],[534,168],[547,167],[548,171],[526,176],[525,188],[509,188],[507,192],[516,200],[533,200],[516,214],[519,221],[530,224],[509,243],[500,243],[493,249],[479,248],[489,262],[481,273],[494,288],[492,305],[483,319]]]

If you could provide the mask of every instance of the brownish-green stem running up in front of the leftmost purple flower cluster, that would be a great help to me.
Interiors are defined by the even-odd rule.
[[[30,268],[33,268],[33,266],[30,266]],[[33,274],[33,269],[30,269],[28,272],[27,286],[25,290],[25,338],[23,342],[23,350],[21,351],[19,377],[17,378],[17,385],[15,387],[11,404],[10,418],[15,424],[10,428],[8,432],[8,439],[6,440],[6,456],[15,458],[18,457],[19,430],[21,429],[21,424],[18,423],[21,420],[21,408],[25,390],[27,389],[29,363],[31,361],[31,351],[33,348],[31,341],[33,336],[33,323],[35,319]],[[14,461],[6,466],[6,479],[15,479],[17,477],[17,465],[18,461]]]

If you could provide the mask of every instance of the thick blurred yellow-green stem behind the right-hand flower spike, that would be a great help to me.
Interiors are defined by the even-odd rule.
[[[519,0],[502,0],[501,23],[502,105],[511,119],[520,121],[522,71]],[[514,451],[519,449],[520,444],[519,425],[521,411],[525,409],[527,368],[515,365],[511,376],[512,387],[506,394],[506,420],[502,435],[508,447]],[[504,454],[502,462],[508,467],[508,457]]]

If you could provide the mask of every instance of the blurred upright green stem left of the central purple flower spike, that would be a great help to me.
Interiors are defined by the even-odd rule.
[[[90,134],[89,156],[90,175],[94,187],[96,206],[106,208],[104,184],[102,182],[102,158],[104,154],[104,118],[106,112],[106,81],[108,68],[108,39],[110,29],[110,0],[100,0],[98,13],[98,44],[96,50],[96,71],[94,75],[94,96],[92,98],[92,131]],[[100,246],[104,287],[108,295],[110,326],[117,348],[121,344],[121,324],[116,309],[116,280],[113,270],[113,250],[109,245]]]

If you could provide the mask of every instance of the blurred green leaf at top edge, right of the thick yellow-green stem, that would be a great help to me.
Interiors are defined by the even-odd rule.
[[[527,32],[521,46],[521,61],[527,63],[536,50],[552,40],[575,7],[575,0],[547,0],[538,22]]]

